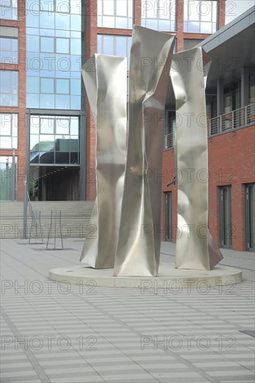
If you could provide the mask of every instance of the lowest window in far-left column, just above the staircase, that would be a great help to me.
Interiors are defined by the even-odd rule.
[[[17,157],[0,156],[0,201],[17,200]]]

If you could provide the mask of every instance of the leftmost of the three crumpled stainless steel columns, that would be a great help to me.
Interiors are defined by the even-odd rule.
[[[95,54],[82,68],[91,111],[96,117],[96,188],[91,215],[96,229],[87,237],[81,261],[114,267],[126,156],[127,59]]]

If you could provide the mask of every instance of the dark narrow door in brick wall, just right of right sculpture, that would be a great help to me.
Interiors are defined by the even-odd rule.
[[[221,246],[226,249],[231,249],[231,186],[224,186],[220,188],[219,218]]]

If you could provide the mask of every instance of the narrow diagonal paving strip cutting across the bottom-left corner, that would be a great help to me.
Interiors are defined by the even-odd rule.
[[[3,308],[1,308],[1,315],[3,315],[3,319],[6,321],[8,326],[10,327],[11,331],[13,331],[13,334],[15,336],[18,336],[19,338],[23,339],[22,334],[20,334],[20,331],[17,329],[17,327],[13,324],[12,320],[8,317],[6,312]],[[33,366],[33,369],[36,371],[40,381],[42,383],[50,383],[49,377],[47,377],[45,370],[43,370],[42,366],[40,366],[40,363],[34,356],[33,352],[28,347],[27,350],[25,349],[24,345],[21,345],[24,353],[26,354],[27,359],[29,359],[31,365]]]

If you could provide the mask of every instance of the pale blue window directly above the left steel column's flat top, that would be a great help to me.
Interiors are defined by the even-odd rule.
[[[127,57],[129,68],[131,36],[98,35],[98,42],[98,53]]]

